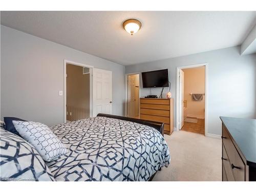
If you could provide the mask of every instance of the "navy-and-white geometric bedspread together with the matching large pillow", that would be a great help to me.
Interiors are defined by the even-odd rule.
[[[153,127],[94,117],[50,127],[68,152],[42,160],[35,147],[1,127],[1,180],[147,181],[170,155]]]

